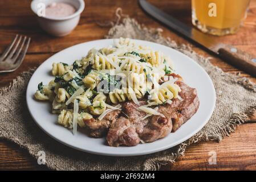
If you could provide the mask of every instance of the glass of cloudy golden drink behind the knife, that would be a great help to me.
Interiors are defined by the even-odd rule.
[[[250,0],[192,0],[192,23],[213,35],[234,34],[246,18]]]

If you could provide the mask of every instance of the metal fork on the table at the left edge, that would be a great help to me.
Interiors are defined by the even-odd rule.
[[[0,56],[0,73],[13,72],[18,69],[25,58],[29,44],[30,38],[17,34]]]

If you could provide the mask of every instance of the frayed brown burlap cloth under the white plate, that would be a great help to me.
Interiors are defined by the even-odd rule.
[[[0,137],[11,140],[38,159],[38,152],[46,154],[46,165],[61,170],[139,170],[159,169],[173,163],[183,155],[187,146],[205,140],[221,140],[246,121],[256,111],[256,86],[246,78],[229,75],[214,67],[189,47],[178,46],[165,39],[161,30],[142,28],[134,19],[125,18],[123,23],[111,28],[107,38],[128,37],[148,40],[172,47],[192,57],[208,72],[217,93],[216,109],[207,125],[184,143],[156,154],[136,157],[109,157],[87,154],[66,147],[48,137],[32,121],[26,106],[26,88],[32,71],[23,73],[7,88],[0,89]],[[196,73],[195,73],[196,74]],[[47,121],[46,121],[47,122]]]

